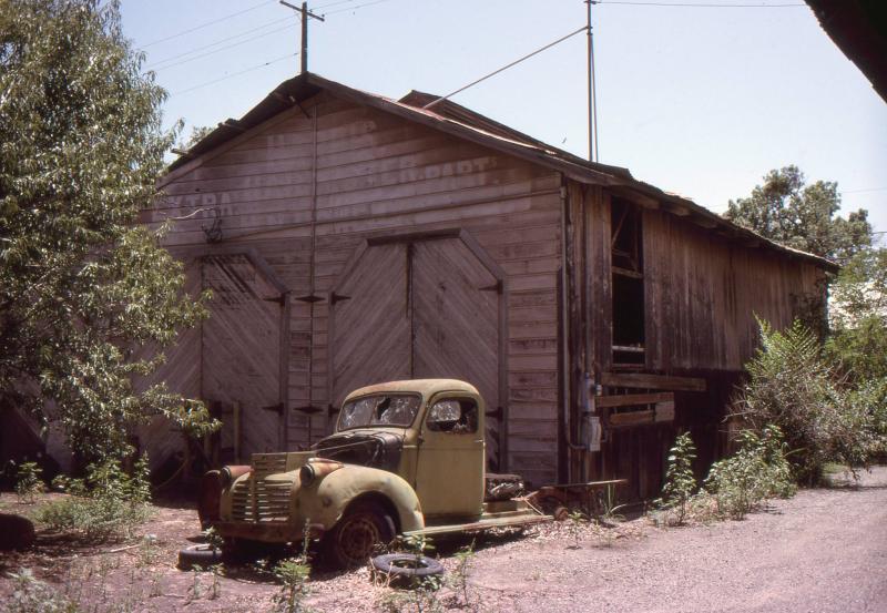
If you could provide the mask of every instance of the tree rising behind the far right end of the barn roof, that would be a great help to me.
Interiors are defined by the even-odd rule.
[[[774,170],[747,198],[730,201],[724,216],[783,245],[839,263],[871,245],[868,212],[860,208],[846,218],[837,183],[806,184],[797,166]]]

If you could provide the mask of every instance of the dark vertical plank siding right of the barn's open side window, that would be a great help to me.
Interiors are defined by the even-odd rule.
[[[812,264],[660,211],[644,212],[643,236],[651,370],[742,370],[758,345],[755,316],[783,328],[822,292]]]

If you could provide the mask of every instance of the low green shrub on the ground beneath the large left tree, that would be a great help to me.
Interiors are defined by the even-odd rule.
[[[147,458],[126,474],[118,460],[90,464],[85,482],[57,479],[71,495],[45,504],[34,515],[52,530],[77,531],[90,541],[130,539],[135,527],[151,515]]]

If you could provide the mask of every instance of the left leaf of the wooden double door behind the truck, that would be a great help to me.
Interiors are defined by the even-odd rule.
[[[336,408],[357,388],[409,378],[407,247],[366,248],[330,297]]]

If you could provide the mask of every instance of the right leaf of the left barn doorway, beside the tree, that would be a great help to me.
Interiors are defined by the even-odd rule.
[[[202,397],[222,420],[220,460],[281,450],[284,299],[245,254],[203,258]]]

